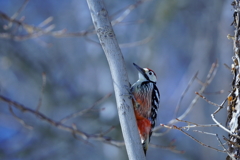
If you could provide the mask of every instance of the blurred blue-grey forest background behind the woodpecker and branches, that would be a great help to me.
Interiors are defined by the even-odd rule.
[[[203,94],[220,104],[231,90],[232,75],[224,63],[231,66],[233,35],[232,1],[224,0],[104,0],[111,20],[119,20],[129,5],[136,5],[122,21],[117,21],[114,31],[125,58],[130,83],[137,80],[137,70],[132,63],[153,69],[158,76],[161,104],[157,124],[167,124],[175,117],[175,108],[190,79],[198,71],[198,78],[205,81],[212,63],[219,68],[213,82]],[[109,98],[94,109],[72,118],[64,124],[75,124],[88,134],[98,134],[114,127],[106,136],[123,141],[111,75],[106,57],[93,33],[93,25],[84,0],[0,0],[0,11],[9,17],[22,6],[15,19],[43,30],[51,28],[53,34],[34,35],[31,27],[11,24],[0,18],[0,92],[24,106],[35,110],[42,95],[41,113],[54,121],[69,114],[87,109],[104,96]],[[48,24],[43,21],[51,19]],[[42,23],[42,24],[41,24]],[[54,25],[54,28],[53,28]],[[50,26],[50,27],[49,27]],[[86,35],[80,33],[87,31]],[[5,36],[3,36],[3,33]],[[63,33],[63,34],[62,34]],[[69,33],[69,34],[68,34]],[[6,36],[8,35],[8,36]],[[59,36],[62,35],[62,36]],[[46,85],[42,93],[42,74]],[[178,115],[181,115],[201,88],[194,81],[184,96]],[[220,90],[222,94],[216,94]],[[85,159],[127,160],[124,147],[101,141],[74,138],[30,113],[13,109],[16,116],[33,127],[21,125],[9,111],[9,105],[0,101],[0,159]],[[198,124],[212,124],[210,114],[216,107],[200,99],[184,120]],[[217,114],[225,124],[226,108]],[[177,123],[177,126],[187,125]],[[227,134],[217,127],[195,128]],[[158,133],[166,131],[161,129]],[[186,130],[199,141],[222,149],[216,137]],[[174,141],[174,144],[172,142]],[[178,130],[152,137],[151,143],[159,146],[175,145],[164,149],[150,147],[147,159],[210,160],[226,158],[220,153],[203,147]],[[184,151],[184,153],[176,153]]]

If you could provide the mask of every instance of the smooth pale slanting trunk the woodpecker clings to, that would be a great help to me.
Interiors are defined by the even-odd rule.
[[[140,142],[131,98],[126,96],[129,95],[126,87],[130,86],[125,63],[109,21],[107,9],[102,0],[87,0],[87,3],[99,41],[109,63],[128,157],[130,160],[144,160],[146,158]]]

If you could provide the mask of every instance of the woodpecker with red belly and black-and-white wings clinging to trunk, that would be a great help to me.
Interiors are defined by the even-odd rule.
[[[155,72],[149,68],[141,68],[135,63],[133,65],[139,71],[139,79],[131,86],[130,92],[133,95],[134,113],[143,150],[146,155],[152,129],[157,119],[160,93],[156,86],[157,76]]]

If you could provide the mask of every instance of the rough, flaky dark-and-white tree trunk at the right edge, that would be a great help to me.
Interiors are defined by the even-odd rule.
[[[227,160],[240,160],[240,3],[239,0],[232,2],[234,8],[234,21],[235,33],[233,38],[233,51],[232,57],[232,92],[228,97],[228,119],[227,126],[232,134],[229,134],[229,153]]]

